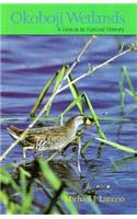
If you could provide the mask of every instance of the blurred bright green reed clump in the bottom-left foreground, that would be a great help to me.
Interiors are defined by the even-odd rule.
[[[55,175],[55,173],[50,170],[48,164],[44,159],[39,159],[37,162],[37,165],[39,166],[39,172],[45,178],[45,182],[47,182],[53,192],[58,193],[61,186],[61,181]],[[42,205],[37,203],[36,196],[34,196],[34,187],[35,183],[41,182],[41,185],[44,186],[43,181],[41,178],[36,180],[36,175],[34,175],[34,178],[32,178],[32,175],[24,169],[25,166],[19,166],[18,168],[18,178],[14,177],[14,175],[11,175],[8,172],[8,169],[4,166],[1,166],[0,169],[0,183],[1,183],[1,191],[0,191],[0,200],[7,208],[7,214],[33,214],[35,212],[35,209],[38,212],[45,212],[48,208],[48,203],[45,204],[42,208]],[[30,184],[30,185],[28,185]],[[39,183],[38,183],[39,184]],[[9,192],[10,189],[10,192]],[[68,214],[78,214],[75,205],[71,201],[67,201],[67,192],[65,192],[64,187],[61,193],[59,194],[57,206],[56,203],[53,201],[53,206],[50,208],[50,212],[56,209],[61,209],[59,207],[59,203],[64,203],[66,206],[66,212]],[[48,198],[50,200],[54,200],[54,196],[48,194]],[[60,205],[61,206],[61,205]],[[62,209],[64,211],[64,209]],[[57,214],[58,210],[56,210]]]

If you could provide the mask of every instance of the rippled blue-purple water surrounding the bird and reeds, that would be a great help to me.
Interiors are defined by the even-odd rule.
[[[46,81],[62,65],[72,64],[88,38],[88,36],[2,36],[1,117],[7,118],[7,120],[4,119],[1,126],[1,153],[12,142],[7,131],[7,126],[12,124],[25,128],[31,123],[27,119],[30,111]],[[135,37],[99,37],[75,68],[72,72],[73,78],[84,73],[88,69],[88,64],[95,66],[117,54],[117,42],[119,41],[124,44],[129,44],[135,42]],[[122,66],[124,65],[126,65],[136,88],[136,53],[130,53],[116,59],[112,65],[79,81],[77,87],[80,92],[84,91],[88,93],[98,115],[121,117],[123,114],[126,114],[126,118],[130,118],[130,122],[123,123],[101,122],[101,126],[107,139],[136,149],[137,104],[129,95],[126,95],[124,111],[122,112],[119,107],[118,80],[122,73]],[[125,88],[128,88],[126,82]],[[68,89],[56,97],[50,115],[57,116],[71,100],[72,97]],[[77,107],[69,112],[67,116],[75,114],[78,114]],[[92,138],[91,132],[96,134],[94,127],[85,129],[82,139],[83,143]],[[72,155],[70,155],[70,152],[71,150],[68,149],[65,162],[67,161],[67,163],[71,164],[73,172],[70,171],[71,173],[69,174],[67,169],[66,174],[61,174],[61,177],[70,182],[76,180],[77,186],[78,176],[75,174],[75,171],[77,171],[76,152]],[[80,162],[84,177],[79,182],[79,189],[82,191],[81,187],[85,183],[89,183],[91,188],[96,185],[109,185],[110,188],[101,189],[96,195],[100,198],[117,197],[121,200],[100,200],[99,208],[102,214],[137,214],[137,158],[109,146],[105,146],[100,158],[98,152],[99,142],[94,141],[90,143],[84,154],[85,158],[81,158]],[[22,162],[22,150],[18,146],[3,163],[12,161]],[[56,164],[56,169],[57,166]],[[60,170],[56,171],[59,172]],[[41,197],[42,199],[43,197]],[[91,212],[87,201],[77,201],[76,205],[81,214]]]

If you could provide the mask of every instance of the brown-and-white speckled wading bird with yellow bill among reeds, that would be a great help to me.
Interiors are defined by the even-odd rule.
[[[70,117],[65,124],[59,126],[44,126],[30,129],[19,142],[23,149],[23,159],[26,159],[26,150],[38,152],[45,150],[64,150],[77,139],[77,134],[82,125],[91,125],[92,123],[93,118],[77,115]],[[13,125],[10,125],[7,130],[14,140],[24,131],[24,129],[20,129]]]

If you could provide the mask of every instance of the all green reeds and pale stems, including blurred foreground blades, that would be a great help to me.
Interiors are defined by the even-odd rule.
[[[41,119],[42,116],[45,118],[45,120],[50,117],[52,105],[55,97],[58,94],[61,95],[61,92],[64,92],[68,88],[70,89],[72,101],[62,112],[60,112],[55,122],[57,124],[62,124],[66,114],[71,111],[72,107],[77,106],[80,114],[93,118],[96,127],[96,135],[91,135],[91,139],[87,141],[82,147],[81,154],[84,155],[85,151],[88,150],[89,143],[91,145],[94,140],[101,142],[100,147],[102,147],[102,150],[105,146],[110,146],[128,153],[137,153],[137,150],[133,149],[132,147],[118,145],[116,142],[112,142],[111,139],[107,139],[100,125],[100,120],[116,122],[127,118],[109,118],[96,115],[88,94],[85,92],[80,93],[78,85],[76,84],[76,82],[78,82],[79,80],[83,80],[85,77],[90,77],[98,69],[105,67],[118,57],[124,56],[127,53],[135,51],[137,49],[137,45],[129,45],[126,49],[124,49],[123,47],[123,49],[121,49],[121,51],[117,53],[114,57],[111,57],[109,60],[93,68],[89,67],[85,73],[82,73],[80,77],[73,79],[73,68],[79,64],[81,57],[84,55],[89,46],[94,43],[94,41],[96,41],[96,36],[90,37],[87,44],[83,46],[82,50],[80,51],[79,56],[77,57],[76,61],[73,61],[70,67],[62,66],[62,68],[57,71],[49,79],[49,81],[47,81],[30,112],[32,123],[25,129],[23,135],[18,140],[15,140],[3,154],[1,154],[0,161],[7,159],[7,155],[10,153],[10,151],[20,142],[21,139],[25,138],[26,132]],[[126,80],[128,89],[125,89],[124,80]],[[130,95],[134,101],[137,101],[137,92],[135,91],[132,79],[129,78],[125,66],[123,66],[122,76],[118,83],[121,91],[121,107],[123,108],[126,104],[126,95]],[[44,107],[41,108],[41,104],[43,103],[46,94],[49,91],[52,92],[52,94]],[[54,157],[52,157],[52,159],[48,161],[39,158],[35,159],[32,163],[20,164],[18,166],[14,163],[1,166],[0,200],[2,203],[2,206],[4,206],[7,214],[79,214],[75,201],[72,203],[69,200],[67,188],[69,187],[69,189],[73,191],[77,195],[79,193],[76,188],[73,188],[72,185],[68,185],[54,173],[50,165],[53,158]],[[43,201],[39,201],[38,197],[35,196],[36,188],[39,189],[39,194],[43,194]],[[99,209],[96,204],[92,201],[92,196],[98,189],[99,188],[93,188],[90,191],[90,193],[89,191],[83,189],[83,194],[81,194],[83,197],[88,195],[88,197],[90,198],[89,208],[91,210],[91,214],[101,214],[101,210]]]

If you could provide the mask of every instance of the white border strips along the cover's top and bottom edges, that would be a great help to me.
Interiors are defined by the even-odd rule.
[[[137,3],[137,0],[0,0],[0,3]],[[1,219],[19,219],[19,217],[21,219],[34,219],[34,218],[37,218],[37,216],[35,215],[18,215],[18,216],[10,216],[10,215],[1,215],[0,216]],[[62,216],[62,215],[59,215],[59,216],[53,216],[53,215],[48,215],[48,216],[39,216],[38,215],[38,218],[39,219],[45,219],[45,218],[49,218],[49,219],[53,219],[53,218],[57,218],[58,217],[60,219],[66,219],[66,218],[76,218],[76,219],[81,219],[81,215],[75,215],[75,216]],[[136,218],[136,215],[85,215],[83,216],[85,217],[87,219],[135,219]]]

